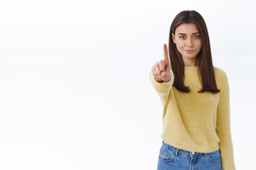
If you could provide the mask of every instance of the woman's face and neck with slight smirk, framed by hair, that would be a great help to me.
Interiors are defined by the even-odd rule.
[[[198,28],[194,23],[182,23],[172,33],[178,52],[181,53],[185,66],[193,67],[196,63],[196,56],[202,47],[201,37]]]

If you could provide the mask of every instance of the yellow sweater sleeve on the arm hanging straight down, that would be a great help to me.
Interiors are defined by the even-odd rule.
[[[216,133],[220,139],[220,155],[223,170],[235,170],[233,142],[230,130],[230,89],[225,72],[220,76],[220,100],[217,108]]]

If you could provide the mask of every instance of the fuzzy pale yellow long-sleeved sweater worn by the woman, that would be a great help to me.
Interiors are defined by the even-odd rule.
[[[214,152],[220,149],[223,170],[235,170],[233,142],[230,132],[230,91],[228,77],[214,67],[215,80],[220,92],[198,93],[201,86],[198,67],[184,67],[185,86],[191,91],[178,91],[171,80],[159,83],[150,73],[150,81],[163,105],[164,142],[191,152]]]

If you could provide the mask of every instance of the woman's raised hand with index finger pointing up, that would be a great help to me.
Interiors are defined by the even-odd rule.
[[[170,69],[171,63],[168,57],[167,45],[164,44],[164,60],[159,60],[159,62],[156,62],[151,71],[156,81],[166,82],[171,79]]]

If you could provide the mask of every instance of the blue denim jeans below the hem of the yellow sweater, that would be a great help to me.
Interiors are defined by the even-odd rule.
[[[193,153],[163,142],[157,170],[222,170],[220,149],[210,153]]]

